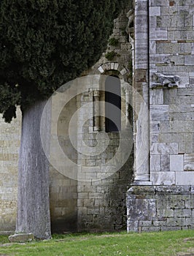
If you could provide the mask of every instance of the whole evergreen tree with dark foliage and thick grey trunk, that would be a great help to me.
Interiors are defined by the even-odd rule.
[[[98,60],[126,2],[0,1],[0,113],[7,122],[17,105],[23,113],[17,233],[50,238],[49,163],[39,135],[42,110],[55,89]]]

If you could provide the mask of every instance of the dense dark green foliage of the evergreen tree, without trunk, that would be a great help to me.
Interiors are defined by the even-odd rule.
[[[126,0],[1,0],[0,112],[6,121],[93,65]],[[16,86],[17,85],[17,86]]]

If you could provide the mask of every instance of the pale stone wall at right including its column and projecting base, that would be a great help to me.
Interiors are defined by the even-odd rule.
[[[134,86],[150,110],[150,164],[135,171],[128,190],[128,231],[194,228],[193,1],[135,2],[135,75],[147,75]],[[141,135],[141,123],[134,125]]]

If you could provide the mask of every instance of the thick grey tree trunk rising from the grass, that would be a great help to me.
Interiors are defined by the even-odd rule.
[[[49,239],[49,162],[42,149],[40,121],[46,101],[23,112],[18,176],[18,216],[16,233],[33,233],[36,238]],[[44,112],[45,113],[45,112]],[[44,118],[44,139],[50,141],[50,105]]]

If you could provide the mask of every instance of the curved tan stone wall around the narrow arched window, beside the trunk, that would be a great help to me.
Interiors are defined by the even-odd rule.
[[[110,66],[106,64],[106,67]],[[99,78],[101,82],[101,75],[92,78]],[[122,81],[121,94],[125,99],[124,85]],[[101,94],[93,80],[85,76],[72,81],[69,91],[64,94],[63,90],[55,93],[57,99],[54,100],[54,96],[52,100],[50,157],[54,165],[50,168],[50,206],[52,230],[55,232],[126,228],[125,195],[133,170],[133,152],[130,154],[129,151],[132,151],[133,137],[128,136],[126,118],[120,132],[105,133],[104,121],[96,130],[93,118],[96,91]],[[71,99],[70,92],[76,97]],[[66,104],[66,99],[71,100]],[[128,108],[124,99],[121,108],[126,117]],[[99,102],[104,110],[104,99]],[[59,117],[55,111],[60,113]],[[77,118],[70,124],[75,113],[78,113]],[[70,133],[73,136],[70,137]],[[120,146],[120,140],[131,140],[131,148],[130,143]],[[58,151],[57,143],[62,151]],[[125,165],[117,167],[120,162]],[[71,178],[72,173],[75,176]]]

